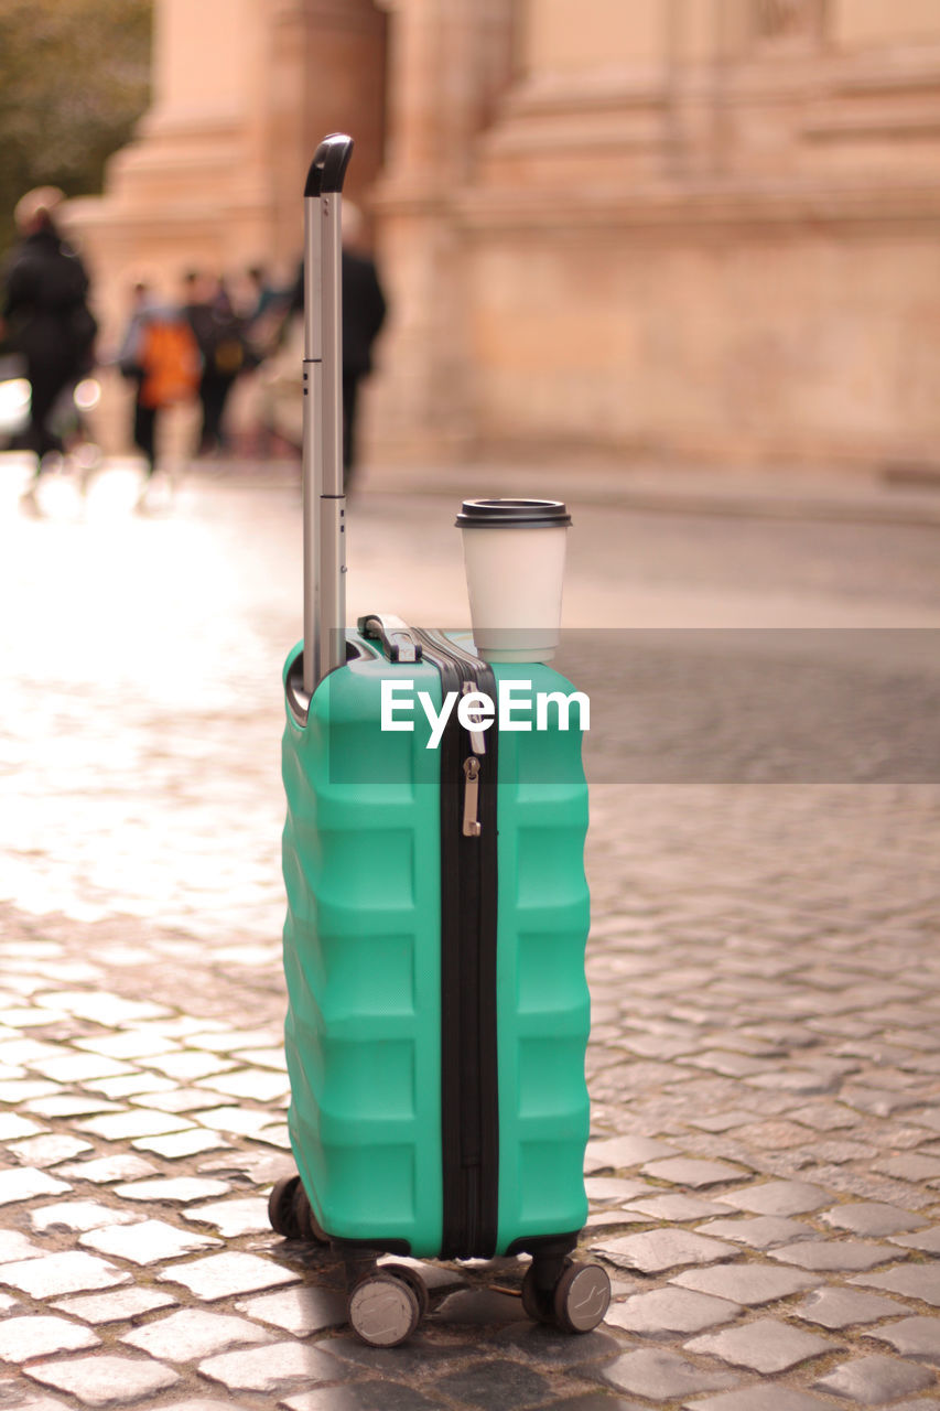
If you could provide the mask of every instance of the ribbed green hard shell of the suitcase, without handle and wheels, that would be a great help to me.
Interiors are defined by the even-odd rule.
[[[360,659],[320,683],[306,724],[288,708],[284,734],[291,1140],[327,1235],[433,1257],[446,1246],[454,1122],[453,1112],[442,1122],[450,783],[442,789],[442,752],[425,748],[423,714],[414,732],[390,732],[380,706],[382,679],[406,677],[439,710],[442,682],[429,662],[397,666],[374,643],[356,645]],[[497,683],[570,690],[548,666],[493,670]],[[498,1229],[495,1247],[463,1254],[573,1233],[587,1215],[587,786],[576,725],[498,735],[498,1132],[484,1133],[498,1153]]]

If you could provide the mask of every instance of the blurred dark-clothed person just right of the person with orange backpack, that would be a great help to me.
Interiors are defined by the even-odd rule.
[[[198,454],[222,456],[229,446],[224,430],[229,394],[239,374],[255,365],[255,360],[246,339],[244,319],[236,313],[224,281],[216,279],[215,288],[203,292],[200,277],[188,274],[186,286],[185,313],[202,354]]]

